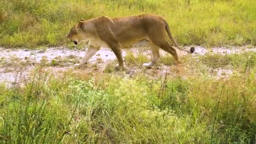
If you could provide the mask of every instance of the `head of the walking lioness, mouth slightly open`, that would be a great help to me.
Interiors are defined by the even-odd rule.
[[[78,24],[70,29],[67,38],[72,41],[75,45],[80,42],[91,38],[91,31],[93,30],[93,24],[87,23],[81,19]]]

